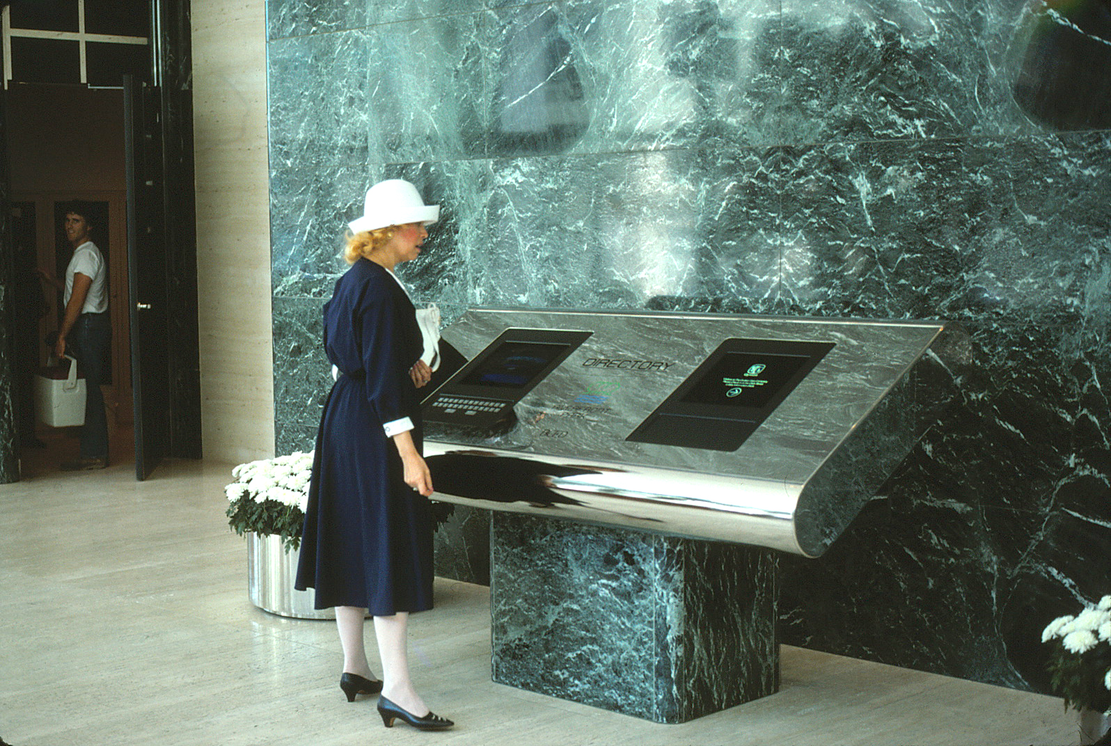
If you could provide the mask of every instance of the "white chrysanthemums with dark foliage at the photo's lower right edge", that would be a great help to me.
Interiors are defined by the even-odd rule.
[[[1111,710],[1111,596],[1087,605],[1075,616],[1061,616],[1042,632],[1053,646],[1049,672],[1064,706]]]

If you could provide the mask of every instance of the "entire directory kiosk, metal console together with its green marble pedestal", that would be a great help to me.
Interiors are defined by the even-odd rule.
[[[442,334],[424,455],[433,498],[498,512],[494,681],[661,723],[778,689],[775,551],[841,535],[962,352],[918,321],[473,309]]]

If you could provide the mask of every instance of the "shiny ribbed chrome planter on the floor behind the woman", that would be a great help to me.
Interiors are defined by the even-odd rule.
[[[313,593],[297,591],[300,552],[286,552],[281,536],[247,533],[247,587],[251,603],[263,612],[294,619],[334,619],[336,609],[312,607]]]

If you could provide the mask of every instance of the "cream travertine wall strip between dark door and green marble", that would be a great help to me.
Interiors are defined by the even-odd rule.
[[[266,7],[192,0],[207,458],[273,454]]]

